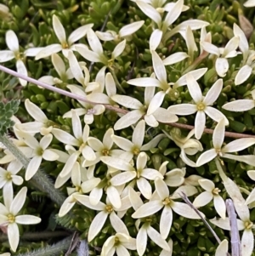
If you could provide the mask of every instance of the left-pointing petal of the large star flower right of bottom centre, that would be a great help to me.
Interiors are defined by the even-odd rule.
[[[138,219],[150,216],[157,213],[163,207],[164,205],[158,200],[146,202],[139,209],[137,209],[135,213],[133,213],[132,218]]]

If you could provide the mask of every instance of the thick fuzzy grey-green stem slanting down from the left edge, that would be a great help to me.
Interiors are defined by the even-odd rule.
[[[0,135],[0,142],[6,146],[15,158],[22,163],[24,168],[27,168],[29,159],[14,145],[14,143],[8,139],[6,135]],[[54,188],[52,180],[48,178],[47,174],[44,174],[41,170],[38,170],[33,178],[29,181],[31,185],[34,185],[40,191],[46,192],[53,202],[56,202],[59,206],[65,201],[65,197]]]

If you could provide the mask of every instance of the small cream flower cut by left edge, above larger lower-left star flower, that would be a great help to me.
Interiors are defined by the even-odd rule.
[[[10,162],[6,170],[0,167],[0,189],[3,188],[3,197],[8,193],[14,194],[13,183],[15,185],[23,183],[22,177],[16,175],[21,168],[22,164],[18,161]]]

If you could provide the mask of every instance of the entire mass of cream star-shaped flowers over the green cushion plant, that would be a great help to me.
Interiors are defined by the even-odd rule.
[[[68,182],[72,187],[67,188],[68,197],[59,209],[59,217],[65,216],[71,211],[75,204],[83,205],[97,211],[88,230],[88,242],[94,240],[103,229],[106,219],[110,220],[114,234],[110,236],[102,248],[102,256],[129,255],[129,250],[136,250],[139,256],[144,255],[148,237],[161,247],[160,256],[172,255],[173,241],[169,232],[173,224],[173,212],[187,219],[200,219],[194,209],[186,203],[179,202],[182,192],[187,196],[195,196],[194,206],[200,208],[213,200],[214,208],[220,219],[212,219],[214,225],[229,230],[229,219],[226,217],[226,208],[221,191],[215,187],[212,180],[204,179],[198,175],[185,176],[185,168],[174,168],[167,170],[167,162],[160,162],[159,168],[152,168],[151,150],[155,149],[161,139],[172,139],[180,149],[180,158],[183,165],[198,168],[214,158],[228,158],[231,160],[245,162],[255,167],[255,156],[239,156],[231,154],[243,151],[255,145],[255,139],[235,139],[224,145],[225,127],[229,120],[221,111],[213,107],[221,94],[224,82],[223,78],[229,71],[229,58],[237,54],[243,54],[241,69],[235,77],[235,85],[246,82],[252,74],[254,51],[249,49],[244,32],[234,24],[234,37],[229,40],[224,48],[218,48],[212,44],[211,33],[206,31],[209,24],[202,20],[186,20],[170,30],[169,26],[178,19],[179,15],[189,9],[184,5],[184,0],[176,3],[166,1],[142,1],[134,0],[152,21],[153,32],[150,35],[150,54],[153,71],[150,77],[137,77],[127,81],[135,87],[144,88],[144,100],[139,101],[130,95],[124,95],[122,88],[116,85],[116,77],[113,77],[114,64],[125,52],[127,43],[132,34],[144,26],[144,20],[133,22],[116,33],[114,31],[94,31],[93,24],[79,27],[66,39],[65,28],[59,18],[53,16],[54,32],[59,43],[48,45],[45,48],[28,48],[20,53],[18,38],[14,31],[7,31],[6,43],[9,50],[0,51],[0,62],[15,58],[18,72],[27,75],[25,58],[35,56],[36,60],[51,56],[54,69],[59,77],[41,77],[40,81],[54,86],[61,82],[67,84],[72,94],[81,95],[92,103],[78,100],[79,108],[65,113],[64,118],[71,118],[72,134],[57,127],[54,120],[49,120],[44,112],[30,100],[25,101],[26,111],[34,118],[34,122],[19,123],[14,126],[14,134],[17,139],[13,142],[30,159],[26,168],[25,179],[30,180],[40,168],[42,161],[60,162],[63,164],[55,180],[55,188],[58,189]],[[253,0],[246,2],[246,6],[255,5]],[[176,82],[168,81],[167,65],[173,65],[187,58],[194,59],[198,51],[195,43],[193,30],[201,30],[200,49],[202,52],[211,54],[214,59],[215,71],[218,80],[212,84],[207,93],[201,91],[199,82],[207,68],[200,68],[185,73]],[[187,45],[187,53],[178,52],[164,58],[156,52],[156,49],[164,45],[164,42],[174,34],[180,33]],[[85,37],[88,45],[76,43]],[[105,54],[101,41],[112,41],[116,47],[109,54]],[[236,49],[239,48],[241,52]],[[64,60],[59,56],[62,52]],[[86,62],[77,60],[78,54],[82,55]],[[66,61],[65,61],[66,60]],[[98,71],[95,81],[90,82],[90,74],[86,63],[99,62],[103,67]],[[65,63],[69,64],[66,69]],[[101,65],[102,66],[102,65]],[[109,72],[106,72],[106,70]],[[106,72],[106,73],[105,73]],[[78,84],[70,84],[71,79]],[[20,80],[26,86],[24,80]],[[178,88],[187,85],[191,99],[188,103],[181,103],[162,107],[163,101],[170,94],[177,94]],[[120,94],[118,94],[120,93]],[[248,111],[255,106],[255,90],[252,91],[252,99],[235,100],[226,103],[223,108],[228,111]],[[94,104],[95,103],[95,104]],[[121,110],[121,106],[130,111],[119,113],[113,128],[105,131],[102,140],[92,136],[90,125],[94,123],[94,116],[105,113],[108,106]],[[195,114],[195,128],[186,137],[178,132],[163,130],[148,143],[145,143],[146,125],[157,127],[160,122],[178,122],[178,116],[189,116]],[[203,151],[199,139],[206,128],[207,116],[216,123],[212,134],[212,149],[204,151],[199,157],[195,156],[198,151]],[[80,116],[84,116],[81,121]],[[124,138],[118,130],[131,127],[132,138]],[[130,128],[130,129],[131,129]],[[35,135],[39,135],[39,141]],[[192,136],[195,134],[195,139]],[[60,151],[51,148],[53,139],[63,144]],[[11,249],[15,252],[19,243],[20,225],[37,224],[40,218],[31,215],[19,215],[26,200],[26,187],[14,197],[14,185],[22,185],[23,179],[18,175],[22,165],[8,149],[4,151],[5,156],[0,159],[0,164],[5,164],[6,169],[0,168],[0,188],[3,188],[3,203],[0,203],[0,225],[7,227],[8,240]],[[187,156],[188,155],[188,156]],[[8,164],[8,165],[7,165]],[[95,172],[99,165],[105,165],[104,174]],[[251,179],[255,179],[255,171],[249,171]],[[71,179],[71,180],[70,180]],[[234,185],[224,181],[224,185],[234,190]],[[198,194],[197,186],[204,190]],[[170,192],[170,187],[176,188]],[[230,190],[231,191],[231,190]],[[241,196],[240,189],[236,186],[236,194],[229,196],[233,198],[235,208],[239,214],[238,226],[244,230],[241,246],[244,256],[250,256],[253,250],[252,228],[250,213],[247,205],[252,207],[255,201],[255,190],[247,197],[246,201]],[[133,211],[137,229],[137,236],[132,237],[122,218],[128,210]],[[152,216],[160,216],[159,228],[153,223]],[[202,216],[203,213],[201,213]],[[228,242],[222,242],[216,255],[224,255],[228,251]],[[1,254],[5,256],[4,254]],[[6,254],[8,255],[8,254]]]

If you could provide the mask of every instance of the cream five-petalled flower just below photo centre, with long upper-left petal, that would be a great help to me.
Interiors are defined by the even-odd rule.
[[[145,168],[147,155],[144,152],[139,153],[136,160],[136,168],[133,168],[129,162],[113,156],[102,156],[101,161],[112,168],[123,171],[121,174],[116,174],[111,178],[111,185],[124,185],[134,179],[133,185],[136,183],[139,191],[146,199],[150,199],[152,194],[151,185],[147,179],[155,180],[156,177],[163,179],[160,172],[152,168]]]

